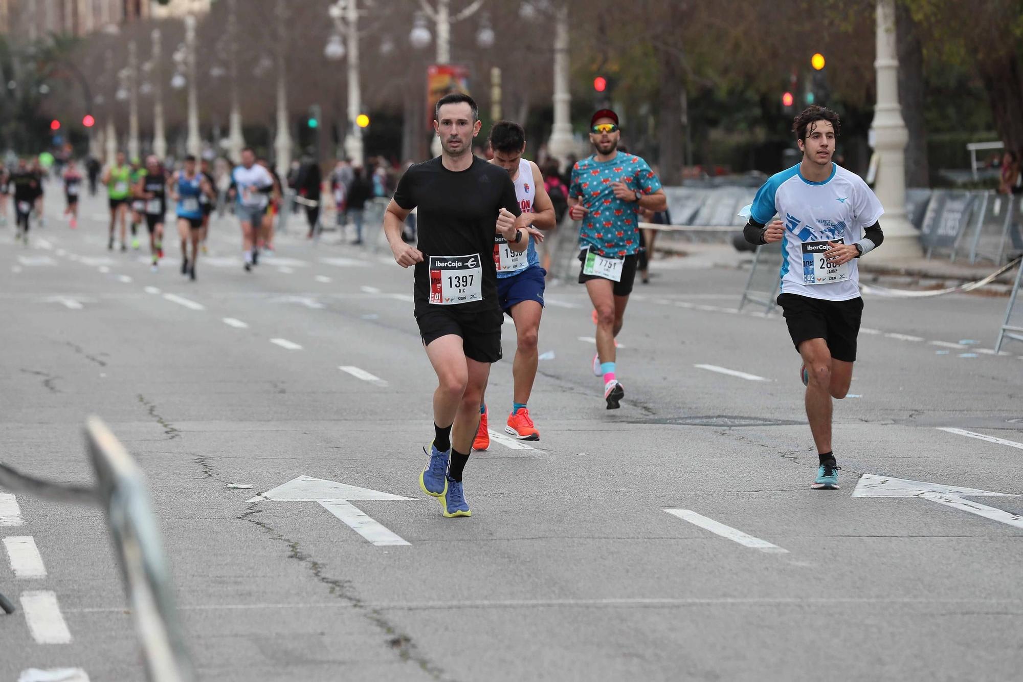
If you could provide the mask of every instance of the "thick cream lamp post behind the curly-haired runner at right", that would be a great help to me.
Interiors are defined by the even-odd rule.
[[[878,175],[874,190],[885,207],[885,245],[872,258],[888,261],[920,256],[919,232],[905,217],[905,146],[909,135],[898,101],[898,52],[893,0],[878,0],[878,101],[874,111],[874,150]]]

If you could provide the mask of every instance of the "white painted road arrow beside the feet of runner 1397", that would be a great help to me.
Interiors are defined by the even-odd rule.
[[[324,509],[340,518],[348,527],[377,547],[408,545],[397,535],[366,516],[351,503],[352,500],[411,500],[400,495],[370,491],[323,478],[299,476],[272,491],[256,496],[249,502],[318,502]]]

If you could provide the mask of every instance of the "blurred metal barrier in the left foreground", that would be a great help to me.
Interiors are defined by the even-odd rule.
[[[54,483],[4,464],[0,464],[0,484],[55,502],[99,505],[105,510],[148,679],[192,682],[194,673],[145,476],[98,418],[89,418],[85,437],[96,474],[95,486]]]

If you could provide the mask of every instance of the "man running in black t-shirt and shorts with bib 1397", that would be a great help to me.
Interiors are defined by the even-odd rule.
[[[501,235],[522,252],[529,233],[515,226],[519,202],[507,172],[473,156],[481,125],[473,98],[445,95],[435,119],[444,152],[405,172],[384,214],[384,231],[398,264],[415,266],[415,321],[440,383],[434,393],[436,435],[419,485],[441,499],[445,516],[470,516],[461,474],[490,364],[501,357],[494,237]],[[401,239],[416,207],[418,248]]]

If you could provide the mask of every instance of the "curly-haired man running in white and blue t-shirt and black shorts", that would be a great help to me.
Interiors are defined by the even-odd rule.
[[[744,233],[752,244],[782,243],[782,306],[803,359],[806,416],[819,466],[813,488],[836,489],[841,467],[832,451],[832,398],[852,381],[863,310],[856,258],[881,246],[884,208],[866,183],[832,161],[838,114],[810,106],[793,132],[803,160],[757,190]]]

